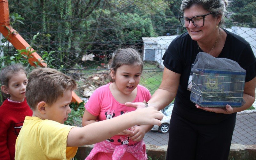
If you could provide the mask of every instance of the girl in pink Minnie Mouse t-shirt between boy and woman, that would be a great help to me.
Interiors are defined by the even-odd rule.
[[[142,69],[143,61],[135,49],[118,49],[112,58],[110,83],[96,89],[85,105],[83,126],[134,111],[135,108],[124,105],[126,102],[148,101],[150,92],[139,85]],[[143,137],[151,128],[134,126],[109,137],[95,144],[86,160],[147,159]]]

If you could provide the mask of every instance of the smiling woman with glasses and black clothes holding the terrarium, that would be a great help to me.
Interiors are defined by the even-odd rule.
[[[161,110],[175,98],[167,159],[228,159],[236,112],[255,100],[256,60],[250,44],[220,28],[227,5],[227,0],[182,1],[180,22],[188,32],[175,38],[166,50],[162,83],[148,101]],[[241,108],[228,104],[226,108],[203,108],[190,101],[188,79],[198,52],[234,60],[246,70],[246,103]],[[139,108],[142,104],[126,105]]]

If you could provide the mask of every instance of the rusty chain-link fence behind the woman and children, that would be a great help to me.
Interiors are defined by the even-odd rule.
[[[163,75],[162,56],[184,29],[179,22],[180,0],[12,0],[10,13],[23,23],[13,28],[48,61],[78,83],[76,94],[86,102],[108,83],[109,60],[117,48],[136,47],[144,60],[140,84],[151,94]],[[223,28],[244,37],[256,55],[256,2],[233,0]],[[40,33],[34,41],[33,36]],[[4,54],[13,55],[11,45]],[[50,54],[49,54],[50,53]],[[232,143],[256,143],[255,108],[237,115]],[[79,123],[79,122],[78,122]],[[146,143],[166,145],[168,133],[150,131]]]

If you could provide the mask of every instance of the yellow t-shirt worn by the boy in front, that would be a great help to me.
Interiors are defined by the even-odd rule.
[[[68,133],[75,126],[26,116],[15,145],[15,160],[71,159],[78,147],[67,147]]]

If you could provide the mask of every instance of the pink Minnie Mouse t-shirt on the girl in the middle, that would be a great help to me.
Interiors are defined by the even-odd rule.
[[[135,110],[135,108],[127,107],[119,103],[114,98],[109,89],[110,84],[111,83],[108,83],[97,88],[85,104],[85,108],[89,113],[93,116],[98,116],[98,121],[103,121]],[[148,89],[138,85],[136,98],[132,102],[148,101],[150,98],[151,94]],[[130,140],[128,135],[115,135],[109,137],[107,141],[115,145],[127,144],[129,146],[135,145],[136,143],[136,141]]]

